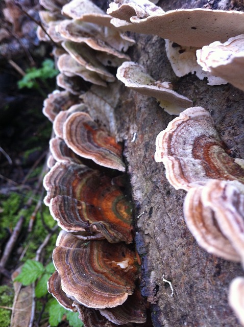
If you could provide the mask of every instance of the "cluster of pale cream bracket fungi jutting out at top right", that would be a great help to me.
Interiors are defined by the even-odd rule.
[[[107,12],[121,31],[164,38],[178,77],[196,73],[209,85],[229,82],[243,90],[243,12],[200,8],[165,12],[148,0],[116,0]]]

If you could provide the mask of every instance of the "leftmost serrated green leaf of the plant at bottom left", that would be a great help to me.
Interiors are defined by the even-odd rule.
[[[20,282],[27,286],[36,281],[40,275],[44,272],[43,265],[35,260],[27,260],[23,265],[20,274],[14,279],[16,282]]]

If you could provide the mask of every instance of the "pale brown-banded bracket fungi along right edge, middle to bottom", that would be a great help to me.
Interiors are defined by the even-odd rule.
[[[227,154],[209,112],[202,107],[181,112],[157,136],[155,160],[163,162],[175,189],[187,191],[184,217],[199,245],[244,267],[243,160]],[[232,283],[229,298],[243,323],[241,283]]]

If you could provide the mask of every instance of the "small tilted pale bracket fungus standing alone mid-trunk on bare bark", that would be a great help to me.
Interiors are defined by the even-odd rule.
[[[154,97],[169,114],[179,114],[192,106],[192,101],[170,89],[169,82],[155,81],[145,68],[133,61],[126,61],[117,69],[117,79],[140,94]]]

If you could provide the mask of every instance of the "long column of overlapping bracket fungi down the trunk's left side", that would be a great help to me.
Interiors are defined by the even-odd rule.
[[[47,34],[40,28],[37,34],[56,43],[57,84],[64,89],[43,107],[55,134],[44,202],[62,229],[48,290],[67,310],[78,311],[86,327],[150,326],[138,289],[132,205],[120,181],[123,149],[113,136],[116,83],[108,85],[115,81],[108,66],[130,60],[123,51],[134,40],[89,0],[40,3]]]

